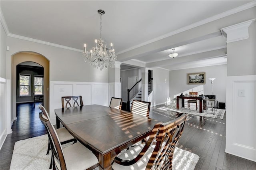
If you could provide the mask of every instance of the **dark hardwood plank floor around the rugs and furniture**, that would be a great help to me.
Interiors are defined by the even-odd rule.
[[[167,122],[177,117],[177,113],[160,109],[164,105],[152,107],[150,117]],[[0,151],[0,169],[8,170],[14,144],[18,140],[46,134],[38,118],[38,103],[17,105],[17,120],[12,126]],[[178,147],[197,154],[200,159],[196,170],[256,170],[256,162],[224,153],[226,141],[226,116],[223,120],[188,115]]]

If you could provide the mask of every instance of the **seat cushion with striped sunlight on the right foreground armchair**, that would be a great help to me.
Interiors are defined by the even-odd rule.
[[[123,166],[120,164],[117,164],[116,162],[114,162],[112,164],[112,169],[114,170],[145,170],[146,166],[148,164],[148,160],[154,150],[154,146],[152,145],[144,154],[144,156],[135,164],[130,165],[130,166]],[[127,150],[126,152],[120,154],[120,156],[118,156],[119,158],[123,159],[123,160],[131,160],[136,158],[136,156],[140,153],[140,151],[143,149],[144,144],[139,144],[137,146],[134,146],[133,148],[130,148],[129,150]]]

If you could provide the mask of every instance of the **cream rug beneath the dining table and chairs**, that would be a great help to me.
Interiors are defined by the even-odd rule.
[[[64,147],[67,146],[68,144]],[[46,155],[47,147],[47,135],[19,140],[14,145],[10,170],[48,170],[51,154]],[[193,170],[198,159],[198,155],[176,148],[172,168],[174,170]],[[97,167],[94,170],[98,169]]]

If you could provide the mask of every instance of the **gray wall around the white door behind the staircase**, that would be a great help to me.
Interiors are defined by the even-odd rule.
[[[141,75],[139,76],[139,69],[132,69],[132,70],[121,71],[120,76],[122,78],[121,97],[123,101],[127,101],[128,77],[137,76],[139,80],[139,77],[141,77]]]

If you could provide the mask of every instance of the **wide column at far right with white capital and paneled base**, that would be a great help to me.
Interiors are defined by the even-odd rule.
[[[252,19],[221,29],[222,35],[227,38],[228,56],[225,152],[252,161],[256,161],[254,21]]]

